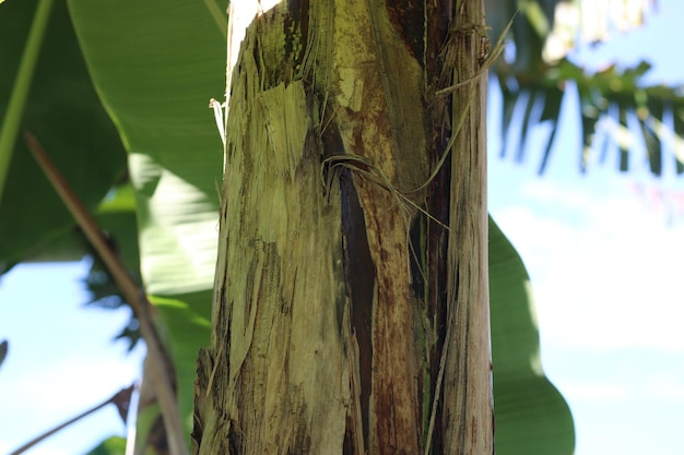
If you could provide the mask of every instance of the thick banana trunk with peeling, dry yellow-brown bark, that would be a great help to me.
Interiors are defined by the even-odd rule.
[[[492,454],[482,2],[258,3],[193,453]]]

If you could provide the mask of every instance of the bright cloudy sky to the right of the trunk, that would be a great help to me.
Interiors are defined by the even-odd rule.
[[[658,3],[642,29],[583,46],[576,59],[593,69],[647,59],[650,82],[683,83],[667,43],[684,3]],[[490,103],[497,111],[496,93]],[[566,103],[563,116],[541,178],[543,128],[524,163],[490,159],[490,209],[530,273],[544,371],[573,410],[577,455],[681,454],[684,180],[671,160],[651,177],[642,149],[628,173],[616,171],[615,153],[580,175],[578,106]],[[497,128],[491,119],[491,151],[500,146]]]

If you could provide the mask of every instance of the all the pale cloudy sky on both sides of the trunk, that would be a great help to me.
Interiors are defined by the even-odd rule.
[[[648,58],[651,81],[684,82],[670,39],[682,17],[684,2],[661,0],[646,27],[582,47],[577,58],[591,68]],[[496,112],[496,94],[491,103]],[[491,212],[530,272],[544,370],[573,409],[577,455],[681,454],[684,180],[650,177],[638,155],[627,175],[615,160],[580,175],[577,106],[567,103],[564,116],[541,178],[533,151],[543,129],[524,163],[490,159]],[[492,151],[500,144],[497,128],[493,119]],[[85,262],[22,265],[0,280],[0,338],[11,344],[0,367],[0,453],[138,375],[142,349],[127,356],[123,343],[111,343],[127,311],[83,308],[86,270]],[[84,453],[115,433],[125,429],[110,407],[30,454]]]

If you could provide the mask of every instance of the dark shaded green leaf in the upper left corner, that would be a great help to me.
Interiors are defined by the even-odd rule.
[[[10,155],[0,191],[0,273],[38,253],[40,260],[75,260],[85,252],[73,218],[28,153],[22,131],[38,139],[92,212],[126,173],[125,149],[93,88],[64,2],[55,2],[38,55],[24,56],[37,4],[22,0],[0,5],[0,119],[19,123],[17,131],[9,132],[12,137],[0,141],[14,144],[0,151]],[[8,105],[23,58],[37,63],[20,109],[23,116],[11,119],[21,115],[9,112]]]

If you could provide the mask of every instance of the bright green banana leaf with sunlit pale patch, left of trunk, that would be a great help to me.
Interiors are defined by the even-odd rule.
[[[209,343],[222,143],[209,99],[225,91],[225,38],[208,3],[73,0],[74,28],[129,153],[141,274],[166,323],[181,416]]]

